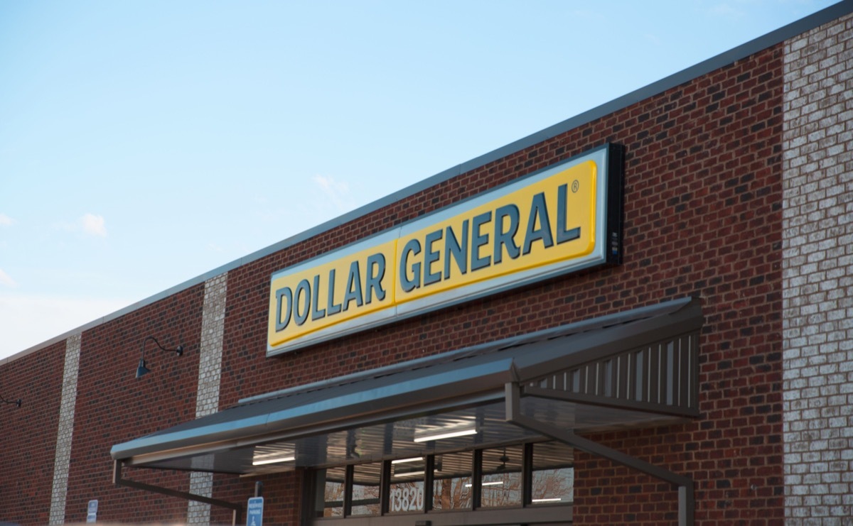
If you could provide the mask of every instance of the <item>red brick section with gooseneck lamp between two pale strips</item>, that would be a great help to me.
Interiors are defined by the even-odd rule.
[[[109,450],[194,420],[203,294],[204,285],[198,285],[83,333],[67,522],[85,523],[92,499],[99,500],[99,521],[186,521],[186,500],[114,486]],[[165,347],[183,344],[184,353],[162,352],[149,341],[145,357],[151,374],[136,380],[142,341],[149,335]],[[189,490],[183,472],[127,470],[125,477]]]

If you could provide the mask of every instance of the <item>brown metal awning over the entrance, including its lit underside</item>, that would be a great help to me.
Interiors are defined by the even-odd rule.
[[[243,475],[429,455],[699,415],[699,300],[685,298],[264,397],[113,446],[122,466]],[[427,442],[430,432],[472,434]],[[278,460],[264,463],[264,460]]]

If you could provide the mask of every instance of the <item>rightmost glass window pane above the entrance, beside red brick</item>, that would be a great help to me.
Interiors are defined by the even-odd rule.
[[[531,504],[567,504],[574,500],[574,452],[558,442],[533,444]]]

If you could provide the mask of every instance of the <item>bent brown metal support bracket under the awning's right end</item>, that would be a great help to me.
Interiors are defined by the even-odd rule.
[[[665,470],[660,466],[649,464],[645,460],[636,459],[632,456],[615,449],[607,448],[600,443],[595,443],[587,438],[578,437],[571,430],[563,430],[555,426],[551,426],[545,422],[532,419],[529,416],[521,414],[521,394],[520,386],[516,383],[509,382],[505,386],[506,403],[507,403],[507,421],[516,426],[524,427],[533,432],[542,433],[546,437],[554,438],[572,448],[580,449],[591,455],[601,456],[608,460],[612,460],[617,464],[634,468],[639,472],[644,472],[655,478],[659,478],[668,483],[672,483],[678,488],[678,525],[693,526],[695,497],[693,495],[693,479],[683,477],[676,473]]]

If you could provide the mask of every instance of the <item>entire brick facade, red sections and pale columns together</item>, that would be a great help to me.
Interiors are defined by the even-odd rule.
[[[4,364],[0,394],[32,410],[0,408],[0,425],[16,430],[0,450],[0,520],[50,520],[62,371],[77,345],[67,490],[54,509],[84,522],[98,499],[99,520],[183,523],[185,501],[113,486],[111,445],[243,397],[694,294],[706,315],[699,420],[592,438],[692,477],[699,524],[839,523],[853,494],[849,34],[846,19],[765,49],[229,270],[227,287],[213,278]],[[607,141],[626,146],[623,265],[265,356],[273,272]],[[148,335],[185,354],[150,345],[153,372],[136,380]],[[575,473],[576,523],[676,521],[667,484],[583,453]],[[126,476],[232,502],[245,502],[256,480]],[[297,524],[303,474],[258,480],[265,520]],[[230,520],[215,507],[189,515]]]

